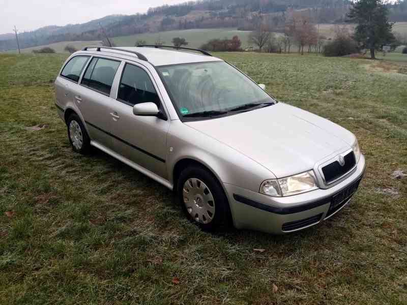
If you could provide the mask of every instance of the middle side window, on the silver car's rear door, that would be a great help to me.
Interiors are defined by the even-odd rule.
[[[114,75],[118,70],[120,62],[105,58],[92,58],[92,62],[86,69],[82,78],[82,84],[109,95]]]

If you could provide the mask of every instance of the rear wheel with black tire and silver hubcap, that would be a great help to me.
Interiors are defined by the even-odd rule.
[[[76,113],[72,113],[67,120],[68,139],[72,149],[79,154],[88,155],[91,152],[91,140],[82,120]]]

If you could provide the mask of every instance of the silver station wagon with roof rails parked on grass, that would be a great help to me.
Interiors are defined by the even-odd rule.
[[[350,201],[365,170],[354,134],[205,51],[85,47],[55,87],[74,151],[97,147],[175,191],[205,230],[313,226]]]

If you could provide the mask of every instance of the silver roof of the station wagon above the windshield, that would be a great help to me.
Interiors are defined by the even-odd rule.
[[[118,53],[120,55],[126,55],[126,57],[135,57],[135,54],[126,53],[126,51],[137,52],[147,58],[148,62],[153,66],[167,66],[167,65],[179,65],[179,64],[190,64],[190,63],[202,63],[202,62],[218,62],[222,59],[197,54],[193,51],[184,51],[184,50],[171,50],[164,48],[152,48],[152,47],[120,47],[115,48],[106,48],[101,47],[100,54],[106,53],[105,55],[112,56],[112,53]],[[95,52],[93,49],[89,51]]]

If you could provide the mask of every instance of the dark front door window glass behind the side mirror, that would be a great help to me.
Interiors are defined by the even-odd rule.
[[[143,69],[130,64],[124,68],[118,99],[131,106],[152,102],[160,107],[160,98],[150,76]]]

